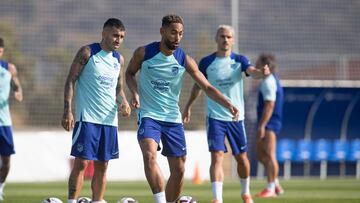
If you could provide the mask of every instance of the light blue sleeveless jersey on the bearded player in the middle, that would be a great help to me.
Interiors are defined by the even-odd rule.
[[[150,117],[159,121],[182,123],[179,96],[185,72],[186,54],[181,48],[166,56],[160,42],[145,46],[139,76],[139,120]]]

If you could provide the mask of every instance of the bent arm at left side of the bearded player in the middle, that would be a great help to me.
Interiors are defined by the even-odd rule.
[[[141,68],[141,64],[144,60],[144,56],[145,56],[145,48],[144,47],[137,48],[129,62],[129,65],[125,73],[126,84],[131,93],[131,106],[133,108],[140,107],[138,85],[135,76],[136,73]]]

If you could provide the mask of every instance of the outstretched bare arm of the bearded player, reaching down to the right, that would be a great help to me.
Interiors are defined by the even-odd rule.
[[[186,56],[186,71],[195,80],[197,85],[199,85],[199,87],[204,90],[208,97],[229,109],[229,111],[233,115],[234,120],[238,119],[239,110],[235,106],[233,106],[231,102],[227,100],[226,97],[224,97],[224,95],[218,89],[216,89],[209,83],[205,76],[200,72],[194,59],[192,59],[190,56]]]

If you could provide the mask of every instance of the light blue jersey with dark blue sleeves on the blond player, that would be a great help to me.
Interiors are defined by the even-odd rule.
[[[239,120],[244,120],[244,85],[243,74],[251,66],[250,61],[235,53],[227,57],[217,57],[216,53],[201,59],[200,71],[208,81],[240,111]],[[207,115],[210,118],[232,121],[230,111],[206,96]]]

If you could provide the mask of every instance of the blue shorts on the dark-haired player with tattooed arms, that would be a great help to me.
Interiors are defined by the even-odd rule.
[[[117,127],[76,122],[72,136],[71,155],[98,161],[119,158]]]

